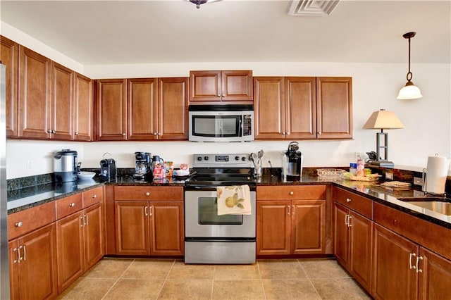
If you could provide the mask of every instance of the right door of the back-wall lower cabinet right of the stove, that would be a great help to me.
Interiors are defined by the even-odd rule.
[[[292,201],[292,254],[326,251],[326,200]]]

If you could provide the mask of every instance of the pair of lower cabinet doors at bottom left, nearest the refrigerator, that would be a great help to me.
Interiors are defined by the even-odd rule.
[[[55,224],[13,239],[8,247],[11,299],[56,298]]]

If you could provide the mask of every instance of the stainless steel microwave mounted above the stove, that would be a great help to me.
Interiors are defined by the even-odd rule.
[[[190,105],[192,142],[250,142],[254,140],[254,106]]]

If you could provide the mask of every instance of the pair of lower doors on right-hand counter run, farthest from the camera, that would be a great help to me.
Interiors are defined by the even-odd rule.
[[[335,258],[370,291],[373,222],[335,203],[334,225]]]

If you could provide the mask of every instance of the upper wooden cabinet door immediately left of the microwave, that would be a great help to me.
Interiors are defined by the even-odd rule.
[[[159,78],[159,139],[188,139],[189,80],[188,77]]]

